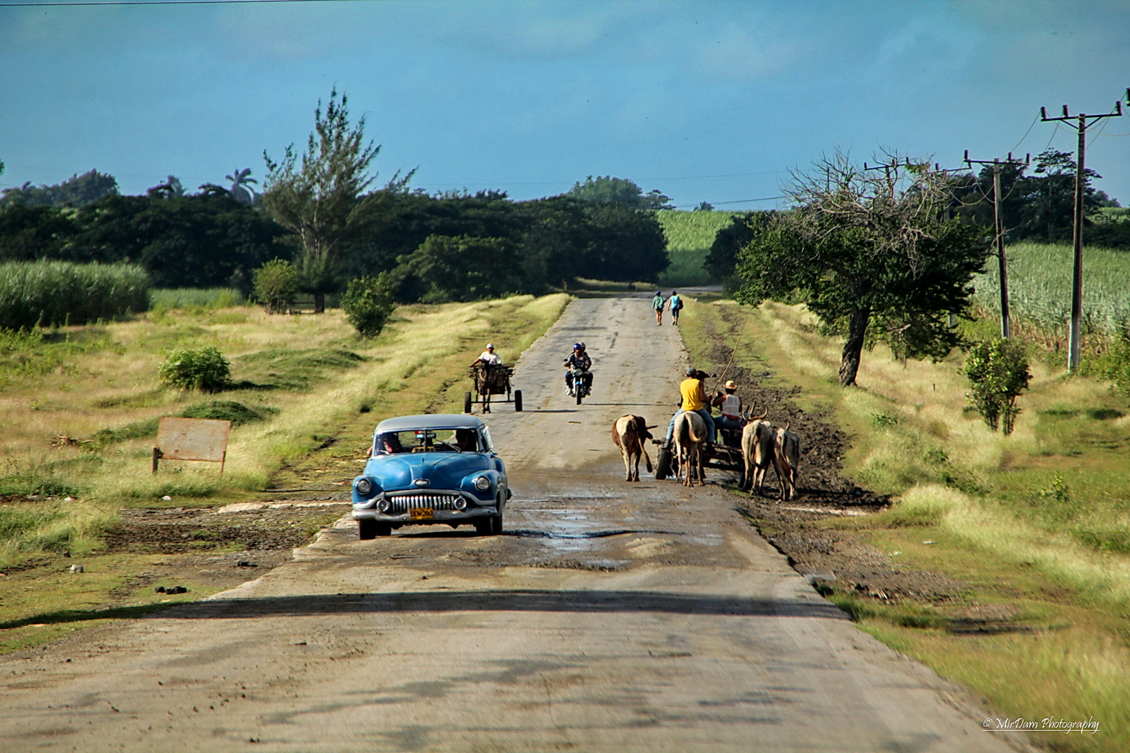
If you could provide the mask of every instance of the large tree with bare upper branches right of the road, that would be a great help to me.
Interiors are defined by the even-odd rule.
[[[739,255],[740,303],[802,300],[846,334],[843,386],[855,384],[869,339],[902,358],[941,358],[957,344],[948,314],[968,307],[988,242],[980,228],[945,219],[942,174],[929,165],[861,170],[836,154],[798,174],[789,193],[796,208],[771,217]]]

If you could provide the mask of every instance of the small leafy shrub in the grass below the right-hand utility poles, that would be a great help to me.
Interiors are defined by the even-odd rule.
[[[1032,380],[1024,345],[1005,339],[980,342],[966,354],[964,370],[973,388],[967,394],[970,405],[993,431],[1000,426],[1005,436],[1012,434],[1020,412],[1016,399]]]

